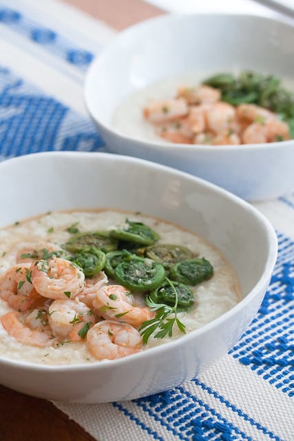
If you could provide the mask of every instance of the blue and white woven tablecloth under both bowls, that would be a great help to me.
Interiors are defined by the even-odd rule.
[[[1,160],[105,148],[85,112],[83,78],[113,35],[53,0],[0,0]],[[294,440],[294,195],[255,206],[273,223],[279,254],[249,329],[207,373],[171,391],[130,402],[54,403],[94,438]]]

